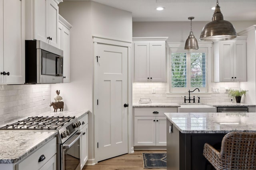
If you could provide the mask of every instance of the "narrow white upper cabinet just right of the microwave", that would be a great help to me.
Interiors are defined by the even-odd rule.
[[[59,15],[58,48],[63,50],[63,82],[70,82],[70,28],[72,25]]]

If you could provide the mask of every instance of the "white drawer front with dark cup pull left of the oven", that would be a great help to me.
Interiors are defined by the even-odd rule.
[[[41,147],[40,149],[36,150],[33,154],[30,154],[26,159],[24,159],[22,162],[20,162],[18,165],[18,170],[38,170],[46,162],[48,162],[52,156],[56,154],[56,137],[52,139],[50,142],[48,142],[46,145]],[[41,162],[38,162],[41,155],[45,156],[45,159]],[[32,168],[33,167],[33,168]]]

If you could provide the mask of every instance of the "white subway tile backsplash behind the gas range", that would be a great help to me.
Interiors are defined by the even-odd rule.
[[[50,111],[50,84],[0,85],[0,125]]]

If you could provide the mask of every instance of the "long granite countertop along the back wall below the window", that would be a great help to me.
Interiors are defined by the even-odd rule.
[[[244,103],[231,103],[231,102],[203,102],[203,103],[150,103],[150,104],[139,104],[133,103],[132,107],[180,107],[184,104],[205,104],[212,107],[255,107],[255,104],[244,104]]]

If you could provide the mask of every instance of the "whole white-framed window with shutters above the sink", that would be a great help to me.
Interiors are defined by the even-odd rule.
[[[184,93],[199,88],[208,92],[208,55],[210,48],[201,47],[196,51],[184,47],[169,50],[169,92]]]

